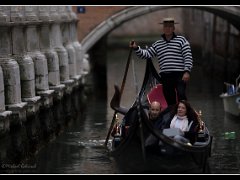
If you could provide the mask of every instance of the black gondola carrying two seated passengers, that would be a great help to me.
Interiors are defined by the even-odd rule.
[[[115,86],[110,106],[122,114],[123,119],[116,120],[119,122],[113,128],[110,155],[114,157],[120,173],[209,173],[212,136],[203,121],[194,144],[175,141],[149,121],[149,93],[160,83],[160,76],[149,59],[141,90],[129,109],[120,106],[120,91]],[[170,109],[165,107],[161,115],[168,116]],[[150,136],[158,142],[151,148],[146,146]]]

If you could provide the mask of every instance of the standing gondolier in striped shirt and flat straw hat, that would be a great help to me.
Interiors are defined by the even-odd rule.
[[[174,33],[174,18],[164,18],[161,39],[147,49],[142,49],[137,43],[130,43],[137,56],[142,59],[158,59],[163,92],[168,105],[176,101],[187,100],[186,83],[190,79],[193,59],[190,44],[183,36]],[[132,41],[131,41],[132,42]]]

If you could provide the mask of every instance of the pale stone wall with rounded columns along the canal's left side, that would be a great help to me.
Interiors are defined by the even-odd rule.
[[[0,6],[0,134],[83,82],[77,22],[70,6]]]

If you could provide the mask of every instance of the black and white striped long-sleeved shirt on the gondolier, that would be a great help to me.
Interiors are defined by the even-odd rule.
[[[185,37],[175,35],[170,41],[165,36],[152,44],[148,49],[136,50],[138,57],[149,59],[157,57],[160,72],[188,71],[193,66],[192,53],[189,42]]]

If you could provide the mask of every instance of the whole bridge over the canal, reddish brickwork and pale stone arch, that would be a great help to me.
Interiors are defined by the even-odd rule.
[[[78,14],[79,40],[87,52],[99,39],[126,21],[166,9],[180,6],[86,6],[85,14]],[[240,30],[240,6],[181,6],[187,9],[199,9],[226,20]],[[76,10],[77,7],[74,7]],[[188,18],[182,17],[187,21]]]

